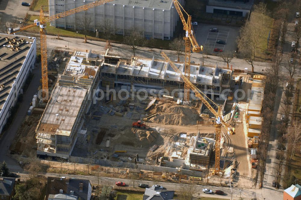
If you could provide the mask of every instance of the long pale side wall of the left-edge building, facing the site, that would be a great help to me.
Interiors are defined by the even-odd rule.
[[[34,64],[36,62],[36,39],[33,41],[28,54],[26,55],[25,61],[20,69],[20,72],[11,88],[11,92],[9,93],[7,100],[3,105],[3,110],[0,111],[0,133],[2,132],[3,127],[9,117],[9,109],[15,105],[17,102],[18,96],[20,94],[20,90],[25,83],[25,80],[34,68]],[[29,106],[28,106],[29,107]]]

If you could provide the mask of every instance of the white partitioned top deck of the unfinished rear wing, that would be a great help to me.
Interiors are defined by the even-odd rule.
[[[105,57],[110,58],[111,56],[105,55]],[[116,57],[113,56],[111,58],[116,59]],[[174,64],[184,75],[184,63]],[[103,63],[101,72],[183,82],[179,73],[175,72],[169,63],[163,60],[155,60],[154,57],[153,59],[133,57],[131,60],[119,58],[119,62],[117,64]],[[190,65],[191,83],[214,86],[220,86],[220,84],[222,84],[227,86],[230,82],[229,80],[225,81],[226,79],[222,78],[224,75],[230,75],[229,77],[231,77],[232,71],[229,69],[219,68],[218,66],[205,67],[200,64]],[[225,82],[221,83],[221,81]]]

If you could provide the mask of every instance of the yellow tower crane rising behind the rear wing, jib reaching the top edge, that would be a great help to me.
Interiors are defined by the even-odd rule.
[[[180,19],[183,23],[183,29],[186,32],[185,37],[183,38],[185,41],[185,61],[184,61],[184,76],[190,80],[190,53],[191,53],[191,46],[193,52],[200,52],[203,51],[203,46],[199,46],[197,44],[197,40],[194,37],[194,33],[191,27],[191,15],[189,15],[184,8],[181,6],[181,4],[177,0],[173,0],[173,4],[175,5],[175,8],[178,11],[178,14],[180,16]],[[181,11],[182,10],[187,14],[188,18],[187,21],[184,18],[184,15]],[[184,83],[184,101],[189,100],[189,87],[186,83]]]

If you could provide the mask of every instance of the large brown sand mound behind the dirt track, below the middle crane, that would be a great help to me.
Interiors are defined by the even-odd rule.
[[[150,112],[158,112],[158,114],[155,117],[152,117],[150,121],[168,125],[196,124],[198,118],[198,114],[195,108],[185,105],[178,105],[173,102],[159,104]]]

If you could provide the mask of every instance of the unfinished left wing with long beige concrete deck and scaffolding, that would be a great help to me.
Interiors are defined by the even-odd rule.
[[[102,60],[102,59],[101,59]],[[77,135],[85,134],[84,113],[99,85],[99,56],[76,51],[51,93],[36,128],[37,154],[69,158]]]

